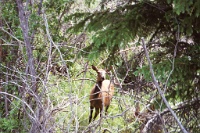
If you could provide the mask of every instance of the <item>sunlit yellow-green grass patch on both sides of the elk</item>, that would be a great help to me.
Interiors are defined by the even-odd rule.
[[[94,78],[94,75],[86,74],[86,76]],[[135,131],[134,127],[137,122],[133,112],[134,98],[118,93],[118,88],[115,88],[107,116],[103,114],[101,123],[99,123],[100,117],[98,116],[91,123],[93,124],[91,127],[89,125],[89,95],[95,83],[90,80],[68,82],[65,78],[57,76],[51,76],[50,83],[52,85],[49,87],[47,95],[52,101],[52,106],[62,108],[62,105],[65,105],[64,109],[53,116],[56,122],[56,132],[63,132],[63,130],[86,132],[89,131],[89,127],[94,127],[93,130],[101,132],[106,130],[121,133]]]

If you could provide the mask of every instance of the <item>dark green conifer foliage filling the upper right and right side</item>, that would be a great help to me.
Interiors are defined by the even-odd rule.
[[[112,10],[107,8],[93,13],[75,13],[69,16],[75,22],[71,31],[79,33],[85,30],[92,33],[92,37],[89,38],[91,43],[84,49],[87,53],[83,53],[83,55],[89,58],[97,58],[101,55],[100,53],[109,51],[110,60],[117,58],[117,52],[127,47],[128,43],[136,39],[137,36],[150,37],[150,40],[160,38],[162,52],[156,51],[151,55],[153,55],[152,61],[157,80],[165,84],[172,69],[172,63],[168,56],[173,55],[173,44],[177,41],[174,33],[177,33],[179,29],[178,32],[181,37],[198,38],[200,29],[198,28],[197,12],[200,8],[197,7],[197,3],[197,1],[190,0],[139,1],[137,4],[125,4]],[[186,93],[187,88],[193,86],[191,82],[199,69],[197,60],[196,63],[191,63],[187,59],[188,55],[192,59],[195,59],[196,54],[199,55],[199,50],[196,51],[196,54],[192,54],[190,51],[198,47],[198,42],[199,39],[194,39],[194,46],[180,42],[179,45],[183,45],[185,52],[184,50],[178,51],[179,55],[177,55],[174,64],[175,69],[167,84],[170,87],[177,83],[179,86],[179,84],[185,82],[184,89],[173,86],[173,89],[177,92],[177,97],[183,99],[186,94],[189,94],[189,92]],[[180,64],[183,64],[183,66],[180,66]],[[191,68],[192,65],[197,66],[197,69],[188,71],[188,68]],[[151,81],[147,65],[136,68],[137,70],[134,72],[136,76],[141,74],[146,81]],[[190,78],[186,75],[190,75]],[[182,91],[185,91],[185,93],[182,93]],[[169,95],[173,94],[169,93]]]

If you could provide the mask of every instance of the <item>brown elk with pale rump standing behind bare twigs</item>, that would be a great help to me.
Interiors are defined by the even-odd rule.
[[[97,81],[90,92],[90,116],[89,123],[92,120],[92,113],[95,108],[95,115],[93,120],[97,117],[100,111],[100,117],[102,110],[105,108],[105,114],[107,111],[114,94],[114,84],[110,80],[106,80],[106,73],[109,70],[97,69],[92,65],[92,69],[97,72]]]

